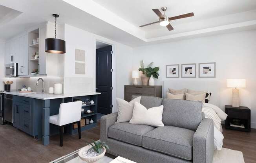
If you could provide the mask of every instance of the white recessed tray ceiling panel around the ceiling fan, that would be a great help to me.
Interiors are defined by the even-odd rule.
[[[255,11],[254,14],[243,13],[255,10],[256,0],[133,0],[132,3],[131,0],[93,1],[137,27],[158,21],[158,16],[152,11],[155,8],[161,11],[161,7],[166,6],[168,17],[194,12],[193,17],[172,20],[170,24],[174,27],[173,31],[168,31],[159,24],[141,27],[146,32],[146,38],[256,19]],[[237,13],[243,16],[240,17]]]

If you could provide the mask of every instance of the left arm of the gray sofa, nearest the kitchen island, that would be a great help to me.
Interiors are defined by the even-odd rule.
[[[101,141],[105,141],[108,138],[108,127],[115,124],[117,121],[118,112],[114,112],[101,117]]]

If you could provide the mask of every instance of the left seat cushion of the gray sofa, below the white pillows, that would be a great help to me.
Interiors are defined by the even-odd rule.
[[[108,137],[133,145],[142,145],[142,135],[154,130],[148,125],[130,124],[129,122],[116,123],[108,128]]]

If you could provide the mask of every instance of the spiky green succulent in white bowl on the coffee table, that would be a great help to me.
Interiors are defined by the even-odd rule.
[[[104,141],[94,141],[90,145],[83,147],[79,150],[79,158],[88,163],[94,163],[101,159],[105,153],[106,149],[109,149],[108,145]]]

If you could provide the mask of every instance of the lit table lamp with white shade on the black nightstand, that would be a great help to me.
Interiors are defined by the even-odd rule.
[[[232,89],[232,107],[239,107],[239,89],[245,88],[245,79],[227,79],[227,87]]]

